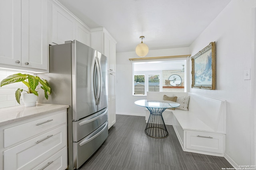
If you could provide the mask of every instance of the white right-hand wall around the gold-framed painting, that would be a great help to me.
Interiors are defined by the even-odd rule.
[[[252,7],[255,0],[232,0],[190,46],[191,55],[216,41],[216,90],[190,88],[190,92],[227,100],[225,157],[238,168],[255,165],[255,110],[251,110],[252,80],[244,80],[244,69],[252,68]],[[254,69],[253,69],[254,70]],[[190,61],[191,71],[191,61]],[[190,84],[192,80],[190,78]],[[254,88],[253,88],[254,89]]]

